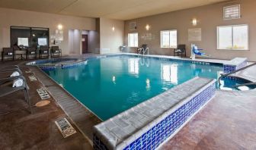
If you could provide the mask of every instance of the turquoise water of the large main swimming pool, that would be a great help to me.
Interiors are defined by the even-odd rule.
[[[91,58],[85,65],[45,72],[107,120],[194,77],[218,79],[222,66],[121,55]]]

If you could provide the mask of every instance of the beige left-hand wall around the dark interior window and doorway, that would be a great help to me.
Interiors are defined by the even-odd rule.
[[[64,55],[79,52],[79,50],[69,50],[69,30],[95,30],[95,19],[93,18],[18,11],[5,8],[0,8],[0,20],[0,51],[2,51],[2,47],[10,46],[10,26],[46,27],[50,28],[51,35],[55,33],[58,24],[61,23],[64,41],[62,41],[60,48],[62,48]]]

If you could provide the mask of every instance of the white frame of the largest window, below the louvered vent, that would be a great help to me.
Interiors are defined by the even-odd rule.
[[[234,33],[233,33],[233,27],[247,27],[247,48],[241,49],[241,48],[233,48],[234,47]],[[232,48],[219,48],[219,27],[232,27]],[[248,24],[236,24],[236,25],[229,25],[229,26],[217,26],[217,50],[231,50],[231,51],[249,51],[249,25]]]

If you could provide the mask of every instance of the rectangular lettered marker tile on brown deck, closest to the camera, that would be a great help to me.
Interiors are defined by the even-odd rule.
[[[75,129],[65,117],[60,120],[56,120],[55,123],[64,138],[76,133]]]

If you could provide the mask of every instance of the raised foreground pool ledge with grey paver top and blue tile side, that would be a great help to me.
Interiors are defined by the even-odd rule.
[[[171,139],[216,92],[216,80],[195,77],[93,128],[94,149],[155,149]]]

